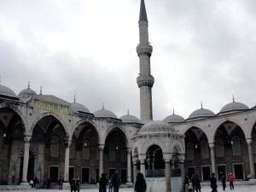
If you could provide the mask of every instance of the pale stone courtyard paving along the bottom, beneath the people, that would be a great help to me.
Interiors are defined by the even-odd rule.
[[[2,191],[9,191],[9,190],[2,190]],[[51,192],[51,191],[59,191],[58,189],[33,189],[33,190],[16,190],[17,192],[33,192],[33,191],[37,191],[37,192]],[[99,191],[99,189],[81,189],[80,192],[97,192]],[[211,192],[212,189],[208,186],[203,186],[201,189],[201,192]],[[221,186],[218,186],[218,192],[222,192],[223,189]],[[227,188],[225,191],[233,191],[230,190],[229,188]],[[61,190],[61,192],[70,192],[70,190],[68,189],[63,189]],[[107,191],[108,192],[108,191]],[[119,192],[133,192],[132,188],[121,188],[119,189]],[[150,191],[147,191],[150,192]],[[235,190],[234,192],[256,192],[256,185],[245,185],[245,186],[236,186],[235,185]]]

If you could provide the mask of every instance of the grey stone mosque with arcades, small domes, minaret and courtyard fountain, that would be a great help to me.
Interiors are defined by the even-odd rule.
[[[80,177],[97,183],[117,168],[121,183],[133,183],[137,172],[146,177],[198,174],[208,181],[212,172],[232,172],[237,180],[255,178],[256,108],[232,102],[219,113],[201,108],[188,119],[175,114],[153,120],[154,77],[150,72],[153,48],[148,42],[148,17],[141,1],[137,55],[141,117],[118,118],[102,109],[91,113],[83,104],[30,88],[18,95],[0,84],[0,184],[26,184],[38,177],[57,183]]]

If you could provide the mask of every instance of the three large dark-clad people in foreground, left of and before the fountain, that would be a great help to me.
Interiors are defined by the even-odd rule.
[[[112,192],[112,187],[113,187],[113,192],[119,192],[120,183],[121,182],[120,182],[118,170],[115,170],[113,175],[110,177],[109,182],[107,179],[107,174],[102,173],[102,177],[100,178],[100,181],[99,181],[99,184],[100,184],[99,192],[106,192],[108,185],[109,185],[108,192]],[[135,183],[135,191],[136,192],[145,192],[146,190],[147,190],[147,184],[144,179],[143,173],[139,172],[137,174],[137,180]]]

